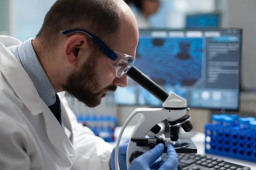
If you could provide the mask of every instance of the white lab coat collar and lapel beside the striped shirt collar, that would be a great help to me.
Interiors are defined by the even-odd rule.
[[[19,45],[20,43],[22,42],[13,37],[0,36],[0,51],[2,53],[0,55],[0,70],[16,95],[35,116],[43,112],[38,91],[20,62],[6,48],[12,45]],[[20,90],[20,87],[24,88]]]

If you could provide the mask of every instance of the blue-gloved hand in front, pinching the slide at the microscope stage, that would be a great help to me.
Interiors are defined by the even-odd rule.
[[[164,144],[157,144],[153,149],[135,158],[129,170],[177,170],[178,156],[172,145],[167,147],[166,161],[155,162],[162,155],[163,150]]]

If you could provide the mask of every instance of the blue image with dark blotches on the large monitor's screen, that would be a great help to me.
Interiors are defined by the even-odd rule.
[[[159,85],[192,86],[201,77],[202,38],[140,38],[135,67]]]

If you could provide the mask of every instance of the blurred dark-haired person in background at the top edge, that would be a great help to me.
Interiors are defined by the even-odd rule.
[[[136,19],[139,29],[151,28],[148,18],[158,11],[159,0],[125,0],[125,2],[137,9]]]

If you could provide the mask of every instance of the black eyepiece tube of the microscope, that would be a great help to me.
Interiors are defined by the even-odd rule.
[[[132,66],[130,68],[130,70],[127,72],[127,76],[130,77],[131,79],[133,79],[139,85],[141,85],[146,91],[151,93],[162,103],[164,101],[166,101],[166,99],[168,98],[169,93],[167,93],[165,90],[163,90],[163,88],[161,88],[159,85],[157,85],[157,83],[155,83],[153,80],[148,78],[145,74],[143,74],[136,67]]]

